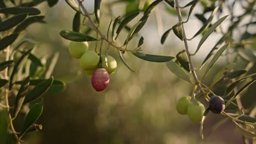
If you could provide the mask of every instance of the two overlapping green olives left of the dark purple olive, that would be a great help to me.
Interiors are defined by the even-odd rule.
[[[181,115],[188,115],[189,119],[194,123],[201,123],[205,106],[197,101],[197,104],[192,103],[191,97],[184,96],[180,98],[176,104],[176,110]]]

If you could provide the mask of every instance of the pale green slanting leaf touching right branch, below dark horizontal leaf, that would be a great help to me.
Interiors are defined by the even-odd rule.
[[[169,62],[166,62],[166,65],[167,65],[167,68],[170,69],[173,74],[177,75],[178,77],[180,77],[181,79],[183,79],[189,83],[192,83],[187,71],[185,71],[184,69],[179,67],[179,65],[177,63],[175,63],[173,61],[169,61]]]

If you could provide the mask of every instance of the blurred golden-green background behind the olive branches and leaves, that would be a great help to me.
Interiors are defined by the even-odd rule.
[[[103,1],[105,4],[108,2]],[[182,1],[181,4],[187,2]],[[91,0],[85,0],[84,4],[89,11],[93,11],[94,3]],[[38,121],[43,125],[43,130],[27,134],[25,143],[242,143],[242,135],[229,120],[214,130],[214,124],[224,116],[212,113],[205,122],[205,139],[201,140],[200,124],[190,122],[187,116],[179,115],[175,110],[177,99],[190,95],[192,87],[172,74],[165,63],[146,62],[125,53],[127,63],[137,71],[132,73],[120,61],[118,51],[111,47],[109,55],[117,59],[118,70],[110,75],[106,91],[96,92],[91,87],[90,76],[84,74],[79,68],[79,61],[69,55],[69,41],[59,35],[62,29],[72,29],[75,11],[63,0],[53,8],[49,8],[46,2],[38,8],[45,15],[47,24],[29,27],[28,37],[39,42],[34,52],[38,57],[59,55],[53,76],[65,81],[67,87],[65,92],[45,95],[44,110]],[[178,21],[175,15],[168,14],[164,8],[164,5],[157,7],[155,10],[158,12],[150,15],[146,26],[139,33],[144,37],[144,53],[175,56],[184,49],[182,41],[172,33],[164,45],[160,44],[161,34]],[[110,17],[104,4],[102,9],[100,29],[106,33]],[[201,9],[200,5],[196,6],[196,11]],[[125,4],[115,5],[113,10],[114,16],[124,15]],[[157,25],[154,15],[160,15],[162,28]],[[190,22],[185,25],[188,37],[193,36],[201,26],[202,23],[191,16]],[[126,37],[127,33],[122,33],[118,44],[122,44]],[[193,57],[196,67],[199,67],[220,36],[211,35],[198,55]],[[130,44],[131,49],[137,44],[138,38]],[[189,42],[191,51],[195,50],[199,40],[200,37]],[[93,50],[95,42],[89,45]],[[106,48],[107,44],[103,44],[103,47]],[[211,75],[225,64],[225,58],[220,59]],[[240,62],[238,67],[244,68],[245,64]],[[255,67],[253,69],[255,71]],[[223,87],[220,85],[219,89]],[[253,85],[244,96],[245,107],[255,104],[255,88]],[[221,94],[218,89],[215,92]]]

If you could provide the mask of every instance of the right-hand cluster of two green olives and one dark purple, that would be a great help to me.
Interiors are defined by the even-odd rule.
[[[209,109],[216,114],[220,114],[225,109],[225,102],[222,97],[213,95],[209,101]],[[176,110],[181,115],[188,115],[194,123],[201,123],[205,106],[200,101],[191,101],[190,96],[180,98],[176,104]]]

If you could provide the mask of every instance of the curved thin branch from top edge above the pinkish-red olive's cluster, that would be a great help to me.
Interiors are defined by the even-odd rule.
[[[94,22],[94,20],[92,20],[90,14],[88,13],[88,11],[85,9],[84,5],[82,4],[82,1],[78,0],[78,4],[79,6],[83,9],[84,13],[82,13],[84,16],[88,17],[89,19],[89,22],[91,23],[91,26],[92,26],[92,29],[100,34],[100,37],[102,40],[106,41],[109,45],[115,47],[116,49],[118,49],[119,51],[130,51],[130,52],[133,52],[134,50],[127,50],[127,49],[124,49],[122,48],[123,46],[117,46],[115,45],[112,41],[109,41],[106,36],[100,31],[100,29],[98,29],[98,26],[96,25],[96,23]],[[113,31],[113,29],[112,29]]]

